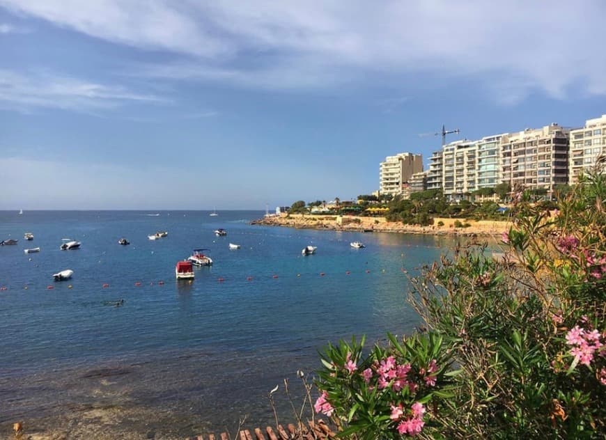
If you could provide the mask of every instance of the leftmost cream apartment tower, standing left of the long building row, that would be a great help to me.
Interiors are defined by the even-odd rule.
[[[423,157],[410,152],[401,152],[395,156],[388,156],[381,162],[379,170],[380,194],[397,196],[402,194],[404,185],[413,174],[423,171]]]

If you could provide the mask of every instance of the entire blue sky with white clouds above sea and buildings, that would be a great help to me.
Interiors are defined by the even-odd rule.
[[[265,210],[606,113],[603,0],[0,0],[0,210]]]

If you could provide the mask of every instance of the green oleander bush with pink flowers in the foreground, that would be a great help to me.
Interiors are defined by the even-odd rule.
[[[503,256],[458,246],[412,279],[426,331],[325,349],[315,409],[343,437],[606,437],[606,174],[557,211],[530,196]]]

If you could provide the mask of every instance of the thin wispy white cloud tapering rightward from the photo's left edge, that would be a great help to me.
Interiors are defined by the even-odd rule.
[[[0,69],[0,107],[29,113],[37,108],[90,113],[132,102],[166,102],[161,97],[56,74]]]

